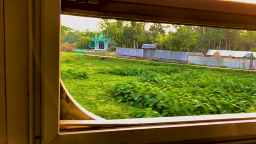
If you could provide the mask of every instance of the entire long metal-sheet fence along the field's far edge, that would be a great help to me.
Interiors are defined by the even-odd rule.
[[[153,53],[152,53],[153,51]],[[149,53],[150,52],[150,53]],[[117,47],[117,57],[124,58],[146,58],[149,57],[158,61],[180,61],[188,62],[189,64],[207,65],[211,67],[226,67],[235,69],[256,69],[256,61],[250,59],[232,59],[218,57],[199,57],[200,52],[181,52],[167,50],[150,50],[147,49],[130,49]]]

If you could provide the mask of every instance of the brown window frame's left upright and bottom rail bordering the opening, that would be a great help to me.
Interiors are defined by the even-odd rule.
[[[134,1],[133,1],[134,2]],[[153,1],[150,1],[153,2]],[[202,2],[202,1],[201,1]],[[203,4],[202,4],[203,5]],[[255,113],[250,119],[231,118],[228,121],[195,123],[172,123],[145,126],[96,129],[86,131],[60,131],[59,105],[60,105],[60,14],[83,15],[91,17],[109,17],[135,19],[146,21],[164,21],[159,17],[136,16],[132,14],[115,14],[85,10],[62,10],[60,13],[60,1],[43,0],[39,4],[41,12],[35,14],[40,20],[40,85],[41,85],[41,138],[42,143],[161,143],[173,141],[203,142],[220,140],[249,139],[255,142],[256,117]],[[177,5],[176,5],[177,7]],[[248,11],[247,11],[248,12]],[[249,12],[248,12],[249,13]],[[238,15],[234,14],[235,17]],[[233,17],[234,19],[234,17]],[[230,19],[232,20],[232,19]],[[181,20],[177,20],[181,21]],[[195,23],[198,21],[182,21],[181,23]],[[198,24],[198,23],[197,23]],[[212,22],[201,21],[200,25],[210,25]],[[255,29],[256,25],[231,25],[230,23],[214,23],[215,26],[243,27]],[[57,42],[56,42],[57,41]],[[38,78],[39,79],[39,78]],[[35,103],[34,103],[35,105]],[[239,114],[237,114],[239,116]],[[197,117],[197,116],[194,116]],[[208,116],[211,119],[211,116]],[[199,136],[200,135],[200,136]]]

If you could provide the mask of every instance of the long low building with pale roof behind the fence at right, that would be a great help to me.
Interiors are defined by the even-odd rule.
[[[251,51],[228,51],[228,50],[208,50],[206,53],[207,57],[214,57],[215,55],[220,55],[222,58],[245,58],[247,53],[253,53],[253,56],[256,56],[256,52],[251,52]]]

